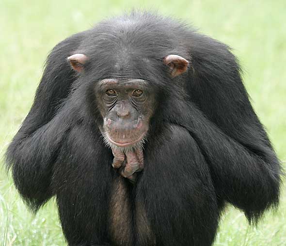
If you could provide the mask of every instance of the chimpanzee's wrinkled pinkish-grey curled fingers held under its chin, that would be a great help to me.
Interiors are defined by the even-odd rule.
[[[114,155],[112,166],[119,168],[121,176],[135,181],[135,172],[143,170],[143,149],[137,148],[136,150],[122,152],[118,149],[112,149]]]

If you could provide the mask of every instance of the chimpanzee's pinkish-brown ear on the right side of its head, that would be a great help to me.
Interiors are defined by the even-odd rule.
[[[167,55],[163,59],[163,62],[165,65],[170,67],[172,78],[186,72],[189,65],[189,62],[179,55]]]

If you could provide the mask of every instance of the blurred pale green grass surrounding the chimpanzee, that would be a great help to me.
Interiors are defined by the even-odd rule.
[[[131,7],[184,19],[234,48],[254,108],[286,161],[285,0],[1,0],[0,156],[32,104],[48,51],[72,33]],[[0,166],[2,166],[2,162]],[[54,201],[32,216],[0,170],[0,246],[63,246]],[[286,246],[286,189],[256,228],[228,207],[215,246]]]

